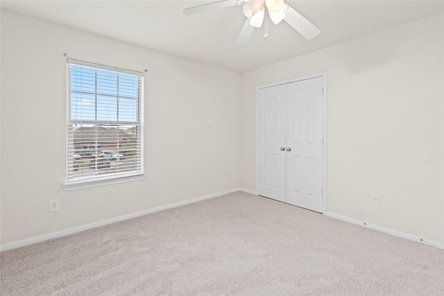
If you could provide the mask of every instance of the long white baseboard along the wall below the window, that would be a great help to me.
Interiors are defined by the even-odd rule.
[[[23,239],[21,241],[13,241],[12,243],[5,243],[3,245],[0,245],[0,252],[12,250],[17,247],[24,247],[25,245],[32,245],[33,243],[40,243],[42,241],[48,241],[49,239],[52,239],[52,238],[59,238],[61,236],[67,236],[69,234],[75,234],[76,232],[83,232],[84,230],[87,230],[87,229],[92,229],[95,227],[100,227],[103,225],[108,225],[108,224],[116,223],[119,221],[128,220],[131,218],[136,218],[139,216],[152,214],[152,213],[155,213],[156,211],[164,211],[165,209],[172,209],[174,207],[180,207],[185,204],[192,204],[194,202],[200,202],[201,200],[209,200],[210,198],[217,198],[218,196],[225,195],[228,193],[237,192],[237,191],[241,191],[241,189],[235,188],[235,189],[230,189],[227,191],[221,191],[221,192],[213,193],[210,195],[200,196],[199,198],[192,198],[191,200],[183,200],[182,202],[174,202],[172,204],[166,204],[164,206],[155,207],[152,209],[146,209],[144,211],[137,211],[137,212],[131,213],[131,214],[117,216],[114,218],[101,220],[101,221],[94,222],[94,223],[89,223],[89,224],[80,225],[80,226],[72,227],[72,228],[65,229],[65,230],[60,230],[59,232],[51,232],[50,234],[42,234],[40,236],[34,236],[31,238]]]

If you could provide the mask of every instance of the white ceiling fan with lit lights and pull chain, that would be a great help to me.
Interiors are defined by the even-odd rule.
[[[239,37],[237,37],[237,45],[246,44],[255,28],[262,26],[264,19],[267,19],[267,15],[270,16],[274,24],[279,24],[282,20],[287,21],[290,26],[295,28],[296,31],[308,40],[313,39],[321,33],[314,24],[311,24],[311,22],[305,17],[302,17],[299,12],[291,8],[287,3],[284,3],[284,0],[222,0],[185,8],[183,13],[185,15],[195,15],[199,12],[235,5],[244,5],[242,10],[244,10],[244,15],[247,17],[244,27],[242,27]],[[264,38],[267,36],[268,35],[265,34]]]

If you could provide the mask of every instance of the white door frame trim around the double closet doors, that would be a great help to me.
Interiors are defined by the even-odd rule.
[[[298,78],[292,78],[289,80],[284,80],[284,81],[280,81],[280,82],[273,82],[273,83],[269,83],[267,85],[260,85],[258,87],[256,87],[256,99],[255,99],[255,107],[256,107],[256,195],[259,195],[259,193],[257,192],[257,189],[259,188],[259,145],[257,143],[257,139],[259,139],[259,108],[258,108],[258,94],[259,94],[259,89],[264,89],[267,87],[275,87],[277,85],[287,85],[289,83],[292,82],[298,82],[301,80],[307,80],[307,79],[311,79],[311,78],[318,78],[318,77],[322,77],[323,78],[323,173],[322,173],[322,178],[323,178],[323,183],[322,183],[322,189],[323,189],[323,196],[322,196],[322,214],[325,214],[325,212],[327,212],[327,71],[323,71],[323,72],[319,72],[319,73],[314,73],[314,74],[310,74],[307,76],[302,76],[302,77],[298,77]]]

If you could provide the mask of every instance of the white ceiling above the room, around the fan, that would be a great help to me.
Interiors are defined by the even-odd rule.
[[[234,42],[245,17],[241,6],[185,16],[183,8],[212,1],[1,1],[1,8],[244,72],[356,37],[443,12],[444,1],[286,1],[321,34],[305,40],[287,23],[268,22],[268,39],[255,29],[245,46]]]

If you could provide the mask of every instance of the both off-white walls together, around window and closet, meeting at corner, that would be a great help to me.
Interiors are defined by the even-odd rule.
[[[444,242],[443,33],[441,14],[239,75],[1,11],[1,244],[255,190],[255,87],[320,71],[328,72],[327,210]],[[65,52],[150,70],[146,180],[62,189]],[[49,213],[54,198],[61,209]]]

